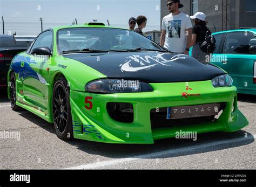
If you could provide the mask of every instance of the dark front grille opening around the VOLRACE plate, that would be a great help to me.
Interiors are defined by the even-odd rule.
[[[219,114],[221,114],[225,109],[227,103],[219,103],[219,104],[220,104]],[[214,115],[214,116],[192,117],[189,119],[167,120],[166,115],[167,115],[167,107],[152,109],[150,111],[151,128],[156,129],[156,128],[165,128],[165,127],[189,126],[192,124],[216,121],[220,116],[220,115],[216,115],[216,116]]]

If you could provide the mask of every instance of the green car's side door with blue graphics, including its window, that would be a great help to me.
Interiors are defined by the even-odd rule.
[[[48,72],[46,66],[51,61],[51,56],[32,54],[37,47],[49,47],[52,50],[53,33],[48,30],[41,33],[30,47],[24,59],[23,94],[25,100],[36,105],[39,109],[48,109],[49,82],[46,79]]]

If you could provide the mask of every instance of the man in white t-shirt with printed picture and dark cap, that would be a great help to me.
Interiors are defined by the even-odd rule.
[[[170,15],[163,18],[160,45],[174,53],[188,55],[192,39],[192,23],[190,16],[179,11],[183,7],[179,0],[168,0]]]

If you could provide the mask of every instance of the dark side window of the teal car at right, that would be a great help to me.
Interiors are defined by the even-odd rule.
[[[228,33],[223,53],[249,54],[250,42],[255,37],[249,32]]]

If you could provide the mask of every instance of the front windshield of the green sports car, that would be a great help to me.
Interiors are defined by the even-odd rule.
[[[122,50],[156,50],[165,51],[152,40],[137,32],[111,28],[73,28],[58,32],[60,53],[67,51],[122,51]],[[91,49],[91,50],[85,50]]]

